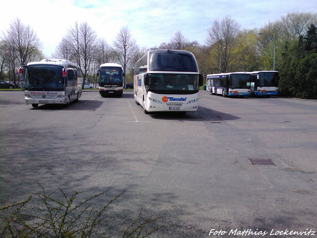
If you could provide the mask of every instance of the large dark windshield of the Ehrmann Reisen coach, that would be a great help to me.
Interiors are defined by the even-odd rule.
[[[58,65],[28,65],[25,71],[24,90],[62,91],[62,66]]]

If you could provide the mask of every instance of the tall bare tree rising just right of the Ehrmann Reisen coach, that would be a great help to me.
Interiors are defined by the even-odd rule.
[[[90,64],[97,50],[97,34],[87,23],[78,25],[76,22],[74,27],[68,30],[68,37],[76,62],[83,74],[82,88],[84,88]]]

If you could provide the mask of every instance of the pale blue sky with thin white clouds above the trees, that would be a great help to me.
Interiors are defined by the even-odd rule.
[[[206,43],[215,20],[230,16],[241,30],[261,28],[293,12],[317,12],[312,0],[7,0],[1,3],[0,37],[17,17],[36,31],[51,57],[75,22],[87,24],[112,45],[128,27],[140,47],[168,43],[177,31]]]

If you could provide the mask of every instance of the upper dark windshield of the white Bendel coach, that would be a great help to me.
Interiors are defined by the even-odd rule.
[[[149,58],[149,71],[198,72],[195,58],[173,50],[153,51]]]

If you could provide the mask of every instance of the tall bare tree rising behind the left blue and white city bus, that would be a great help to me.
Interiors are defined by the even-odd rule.
[[[233,57],[238,54],[236,49],[236,36],[240,30],[240,24],[229,16],[224,17],[221,21],[216,19],[212,26],[208,29],[208,36],[206,42],[211,46],[211,56],[214,57],[210,61],[211,67],[214,71],[219,68],[220,54],[221,55],[221,67],[223,72],[228,72],[228,65]],[[225,47],[225,50],[223,48]]]

